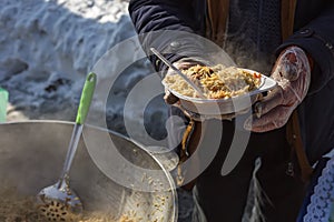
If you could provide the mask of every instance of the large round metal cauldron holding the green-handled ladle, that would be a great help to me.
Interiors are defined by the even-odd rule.
[[[53,184],[62,169],[72,127],[71,122],[59,121],[0,124],[0,193],[6,195],[1,189],[12,185],[19,195],[35,196],[42,188]],[[87,143],[81,138],[70,171],[70,186],[80,196],[85,210],[104,212],[110,215],[108,220],[110,222],[118,221],[122,215],[132,216],[134,221],[141,222],[177,221],[174,182],[159,161],[139,144],[122,135],[92,127],[86,127],[86,130],[94,135],[107,132],[121,155],[131,163],[143,169],[163,172],[164,176],[158,181],[164,189],[149,192],[132,188],[136,184],[124,185],[115,182],[97,167],[87,150]],[[122,169],[120,167],[115,169],[117,170]],[[128,173],[124,176],[134,178]],[[149,174],[135,176],[144,188],[155,183],[155,178]],[[0,209],[0,214],[1,212]],[[6,215],[0,215],[0,220],[3,219],[6,220]]]

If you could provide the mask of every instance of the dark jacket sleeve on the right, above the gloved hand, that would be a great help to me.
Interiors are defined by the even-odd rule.
[[[304,49],[314,61],[308,95],[322,90],[334,78],[334,3],[296,31],[279,49],[291,44]]]

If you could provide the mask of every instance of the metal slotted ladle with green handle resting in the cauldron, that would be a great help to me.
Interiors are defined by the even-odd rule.
[[[69,186],[69,171],[78,148],[84,123],[91,103],[97,75],[89,73],[81,92],[76,124],[68,147],[59,181],[42,189],[37,195],[39,215],[43,221],[77,221],[82,213],[82,203]]]

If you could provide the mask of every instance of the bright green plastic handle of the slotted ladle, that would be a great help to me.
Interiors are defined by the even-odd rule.
[[[78,113],[77,113],[77,119],[76,123],[78,124],[84,124],[89,111],[89,107],[91,103],[95,85],[97,81],[97,75],[94,72],[90,72],[87,78],[86,82],[81,92],[81,98],[80,98],[80,104],[78,108]]]

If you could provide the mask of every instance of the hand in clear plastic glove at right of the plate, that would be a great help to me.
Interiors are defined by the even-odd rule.
[[[277,58],[271,78],[277,81],[278,87],[254,105],[253,120],[245,122],[247,130],[266,132],[287,122],[310,87],[311,65],[305,52],[294,46],[286,48]]]

